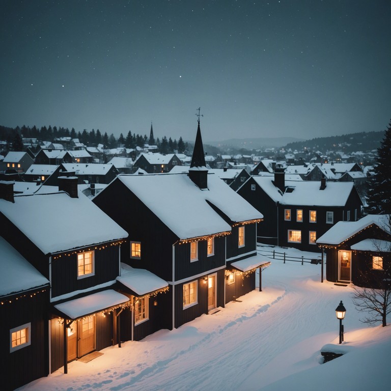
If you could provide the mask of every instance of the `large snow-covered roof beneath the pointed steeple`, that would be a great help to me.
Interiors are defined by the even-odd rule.
[[[262,213],[214,174],[208,174],[206,190],[201,190],[186,174],[119,175],[117,178],[180,239],[231,231],[231,226],[208,202],[234,222],[263,218]]]

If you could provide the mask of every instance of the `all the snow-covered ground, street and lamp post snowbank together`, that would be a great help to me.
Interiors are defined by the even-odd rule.
[[[287,250],[285,250],[287,251]],[[289,253],[302,253],[290,249]],[[304,257],[316,258],[306,253]],[[351,288],[321,284],[321,266],[272,261],[262,292],[242,296],[213,315],[138,342],[72,361],[20,390],[369,390],[391,384],[391,327],[367,327]],[[258,278],[257,278],[258,280]],[[342,357],[321,364],[320,349],[338,344],[335,309],[346,308]]]

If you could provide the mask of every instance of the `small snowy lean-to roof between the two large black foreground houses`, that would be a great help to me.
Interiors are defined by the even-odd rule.
[[[137,296],[168,287],[169,284],[162,278],[146,269],[135,269],[121,262],[121,275],[117,281],[131,289]]]

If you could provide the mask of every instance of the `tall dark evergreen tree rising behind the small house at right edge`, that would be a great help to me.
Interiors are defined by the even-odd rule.
[[[375,174],[368,184],[367,212],[372,214],[391,213],[391,121],[385,130],[384,138],[377,149]]]

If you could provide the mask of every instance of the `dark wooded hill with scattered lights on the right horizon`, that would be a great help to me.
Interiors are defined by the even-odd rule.
[[[305,148],[319,151],[372,151],[380,147],[384,130],[379,132],[360,132],[342,136],[318,137],[306,141],[290,142],[285,149],[301,151]]]

